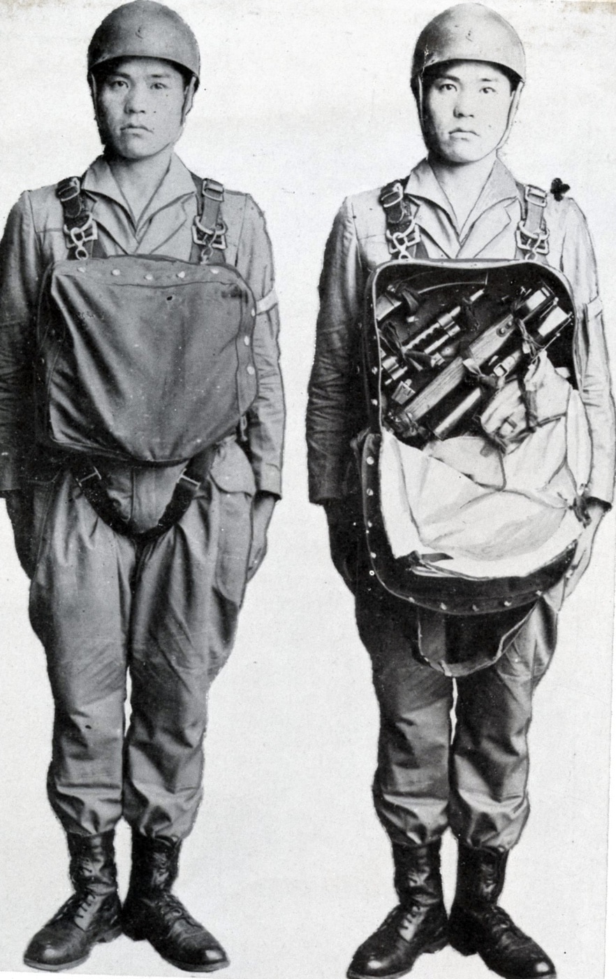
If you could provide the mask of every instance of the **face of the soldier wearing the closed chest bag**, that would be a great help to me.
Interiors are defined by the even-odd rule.
[[[178,139],[186,85],[169,62],[122,58],[97,84],[97,117],[108,152],[125,160],[153,157]]]

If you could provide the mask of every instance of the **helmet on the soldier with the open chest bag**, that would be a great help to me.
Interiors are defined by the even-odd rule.
[[[416,94],[418,80],[426,69],[450,61],[490,62],[524,81],[522,42],[510,23],[479,3],[450,7],[425,25],[418,36],[411,71]]]

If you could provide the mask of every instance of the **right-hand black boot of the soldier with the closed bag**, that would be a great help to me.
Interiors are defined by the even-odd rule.
[[[133,865],[122,909],[122,930],[135,942],[147,939],[159,956],[189,972],[229,965],[225,950],[171,894],[178,875],[180,841],[133,833]]]

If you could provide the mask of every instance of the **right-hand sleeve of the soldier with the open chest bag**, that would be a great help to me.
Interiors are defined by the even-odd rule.
[[[593,447],[587,493],[611,504],[614,492],[616,416],[611,395],[593,242],[584,214],[574,201],[569,200],[567,203],[569,207],[561,269],[571,283],[576,304],[578,327],[574,353],[580,396],[586,408]]]

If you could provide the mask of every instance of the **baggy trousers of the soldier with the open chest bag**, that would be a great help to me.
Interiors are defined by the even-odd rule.
[[[449,825],[465,846],[510,850],[529,815],[531,703],[550,665],[556,613],[537,603],[495,663],[454,679],[420,660],[417,610],[359,564],[356,617],[380,714],[380,822],[394,844],[422,846]],[[480,635],[482,624],[474,628]]]

